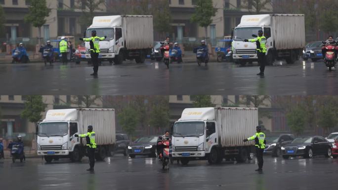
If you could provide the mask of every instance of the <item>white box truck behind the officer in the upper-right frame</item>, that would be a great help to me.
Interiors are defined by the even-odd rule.
[[[260,14],[244,15],[233,31],[233,59],[235,63],[246,64],[257,61],[256,44],[243,42],[253,39],[263,30],[266,42],[266,64],[285,59],[294,63],[305,47],[305,21],[303,14]]]

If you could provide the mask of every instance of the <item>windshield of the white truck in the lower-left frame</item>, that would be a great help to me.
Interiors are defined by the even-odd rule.
[[[40,137],[58,137],[68,134],[67,122],[41,123],[38,136]]]

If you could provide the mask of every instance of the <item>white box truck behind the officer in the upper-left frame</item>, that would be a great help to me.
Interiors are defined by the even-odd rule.
[[[95,16],[85,38],[90,38],[93,30],[98,37],[107,36],[106,40],[99,42],[99,59],[111,63],[122,64],[126,59],[143,63],[154,46],[153,16]],[[90,61],[89,42],[85,42],[85,47],[85,58]]]

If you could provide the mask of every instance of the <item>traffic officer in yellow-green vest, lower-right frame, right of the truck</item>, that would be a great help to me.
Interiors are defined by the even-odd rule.
[[[254,145],[256,147],[256,157],[258,161],[258,169],[255,171],[262,171],[263,170],[263,151],[265,148],[265,134],[261,132],[261,127],[256,127],[256,133],[249,137],[248,139],[244,139],[243,142],[252,141],[254,140]]]

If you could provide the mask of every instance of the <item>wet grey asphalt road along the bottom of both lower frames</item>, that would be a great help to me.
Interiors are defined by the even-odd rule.
[[[20,190],[328,190],[338,185],[338,159],[264,157],[262,173],[255,160],[209,165],[191,161],[162,170],[155,158],[127,158],[120,155],[95,163],[95,172],[86,172],[88,160],[68,159],[45,164],[40,158],[25,163],[0,160],[1,189]]]

